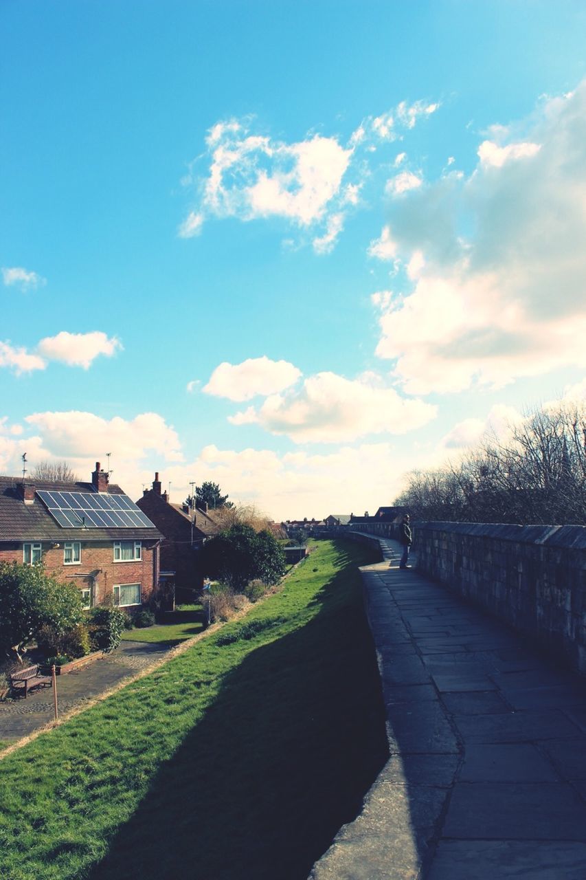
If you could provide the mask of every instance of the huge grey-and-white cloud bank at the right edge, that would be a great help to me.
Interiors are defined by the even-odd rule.
[[[409,393],[586,366],[586,82],[491,134],[469,177],[392,203],[387,259],[421,256],[377,354]]]

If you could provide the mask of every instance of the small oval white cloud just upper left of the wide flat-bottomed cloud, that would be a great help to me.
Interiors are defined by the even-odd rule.
[[[242,363],[220,363],[204,385],[206,394],[228,400],[252,400],[257,394],[267,396],[297,382],[301,370],[288,361],[271,361],[266,355]]]

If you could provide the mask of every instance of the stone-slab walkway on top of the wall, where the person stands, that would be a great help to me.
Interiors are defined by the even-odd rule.
[[[390,758],[311,878],[585,880],[584,682],[381,544],[363,578]]]

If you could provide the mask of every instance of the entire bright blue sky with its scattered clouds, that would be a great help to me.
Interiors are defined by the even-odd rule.
[[[0,473],[373,513],[586,397],[582,0],[1,0],[0,40]]]

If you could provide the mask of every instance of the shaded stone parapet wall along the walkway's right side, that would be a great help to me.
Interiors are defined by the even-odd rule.
[[[414,524],[417,568],[586,674],[586,527]]]

